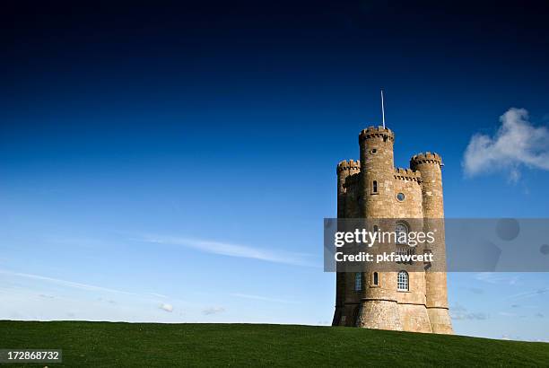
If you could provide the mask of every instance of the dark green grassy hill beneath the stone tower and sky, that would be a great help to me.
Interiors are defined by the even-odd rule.
[[[0,348],[62,348],[64,364],[78,367],[549,366],[545,343],[284,325],[4,320]]]

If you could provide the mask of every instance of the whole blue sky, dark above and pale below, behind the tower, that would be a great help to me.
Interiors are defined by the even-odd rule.
[[[447,217],[547,217],[539,12],[392,4],[6,12],[0,319],[328,324],[323,218],[380,87]],[[549,340],[548,281],[449,275],[456,332]]]

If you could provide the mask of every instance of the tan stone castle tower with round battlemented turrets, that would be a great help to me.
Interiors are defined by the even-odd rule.
[[[394,142],[395,135],[388,128],[362,130],[360,161],[337,164],[338,218],[417,220],[414,226],[422,229],[404,225],[410,231],[424,230],[429,223],[425,219],[444,217],[440,156],[416,154],[409,169],[395,169]],[[430,247],[444,255],[443,231],[437,232]],[[335,284],[334,326],[453,332],[445,272],[338,272]]]

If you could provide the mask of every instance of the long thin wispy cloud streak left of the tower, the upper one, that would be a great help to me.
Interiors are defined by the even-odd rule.
[[[252,258],[267,262],[296,266],[318,267],[317,264],[308,259],[310,256],[307,254],[286,252],[282,250],[264,250],[230,242],[207,241],[170,236],[145,236],[136,240],[155,244],[179,245],[182,247],[205,251],[207,253],[220,254],[222,256]]]

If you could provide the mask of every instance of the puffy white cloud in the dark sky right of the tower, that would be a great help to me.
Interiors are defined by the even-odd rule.
[[[503,171],[516,182],[523,166],[549,171],[549,130],[534,127],[524,109],[508,110],[500,121],[494,136],[471,137],[462,162],[466,176]]]

